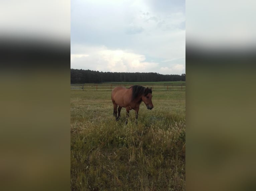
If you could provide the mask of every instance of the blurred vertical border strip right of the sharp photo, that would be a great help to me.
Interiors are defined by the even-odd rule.
[[[252,3],[186,1],[186,190],[256,190]]]

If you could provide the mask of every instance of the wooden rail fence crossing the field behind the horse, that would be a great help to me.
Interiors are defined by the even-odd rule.
[[[129,88],[134,84],[72,84],[72,90],[83,90],[83,91],[112,91],[117,86]],[[178,91],[185,90],[186,84],[136,84],[144,87],[152,87],[153,91]]]

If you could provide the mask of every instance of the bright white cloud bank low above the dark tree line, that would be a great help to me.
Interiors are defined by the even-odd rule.
[[[79,48],[82,51],[82,48]],[[84,47],[85,54],[71,54],[71,68],[103,72],[152,72],[158,63],[146,62],[146,57],[127,50],[106,47]]]

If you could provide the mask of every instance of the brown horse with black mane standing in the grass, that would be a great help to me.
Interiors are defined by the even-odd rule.
[[[113,115],[116,120],[120,119],[120,112],[122,107],[126,108],[126,124],[128,123],[128,117],[130,110],[134,109],[136,114],[136,123],[138,122],[138,112],[140,108],[140,103],[143,101],[147,109],[153,109],[152,103],[152,88],[144,88],[142,86],[132,86],[130,88],[116,87],[112,91],[111,99],[114,105]],[[117,115],[117,106],[118,115]]]

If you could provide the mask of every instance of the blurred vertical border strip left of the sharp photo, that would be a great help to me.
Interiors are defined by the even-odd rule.
[[[70,190],[70,1],[0,7],[1,188]]]

